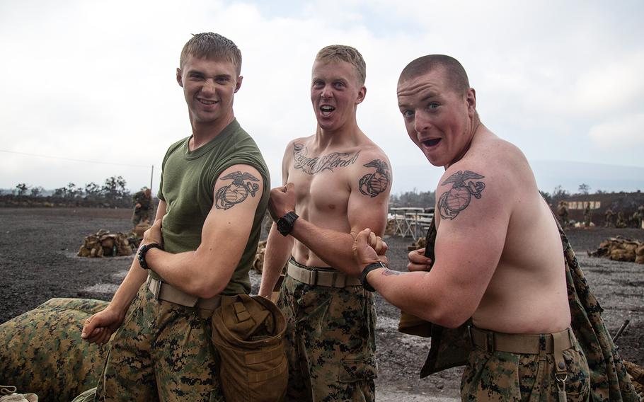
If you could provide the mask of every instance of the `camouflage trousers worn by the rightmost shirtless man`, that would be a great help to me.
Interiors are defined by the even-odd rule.
[[[542,339],[542,345],[545,345],[545,338]],[[563,351],[566,398],[572,402],[588,401],[588,363],[574,335],[572,340],[573,346]],[[461,400],[559,401],[555,374],[555,358],[552,353],[543,350],[534,355],[487,352],[473,346],[461,378]]]

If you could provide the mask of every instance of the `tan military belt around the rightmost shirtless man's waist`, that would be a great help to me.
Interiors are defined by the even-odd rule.
[[[510,352],[527,355],[538,355],[539,352],[560,354],[573,346],[571,337],[575,336],[570,328],[558,333],[544,335],[545,348],[541,345],[541,335],[522,333],[500,333],[469,326],[469,335],[473,345],[487,352]]]

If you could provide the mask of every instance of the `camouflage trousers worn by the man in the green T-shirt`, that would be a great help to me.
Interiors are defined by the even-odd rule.
[[[224,401],[212,311],[157,300],[143,285],[115,333],[98,401]]]

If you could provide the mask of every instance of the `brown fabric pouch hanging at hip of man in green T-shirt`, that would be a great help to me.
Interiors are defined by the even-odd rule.
[[[212,343],[226,402],[282,401],[288,382],[286,318],[269,299],[223,297],[212,315]]]

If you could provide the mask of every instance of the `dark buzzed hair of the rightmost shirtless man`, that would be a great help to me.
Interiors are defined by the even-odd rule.
[[[470,82],[465,69],[458,60],[445,54],[428,54],[427,56],[418,57],[418,59],[413,60],[401,72],[398,84],[439,68],[445,71],[445,75],[447,75],[447,79],[449,80],[449,86],[452,87],[454,92],[464,94],[468,91]]]

